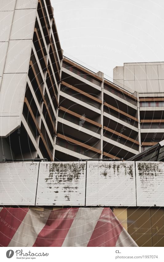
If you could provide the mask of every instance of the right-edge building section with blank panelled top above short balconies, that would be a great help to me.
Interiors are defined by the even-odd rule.
[[[125,63],[113,70],[114,83],[137,92],[141,151],[163,139],[164,63]]]

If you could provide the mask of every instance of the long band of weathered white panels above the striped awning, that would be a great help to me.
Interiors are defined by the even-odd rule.
[[[0,163],[1,205],[164,206],[163,162]]]

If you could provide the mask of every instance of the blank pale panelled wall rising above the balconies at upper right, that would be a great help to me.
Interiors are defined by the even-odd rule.
[[[113,69],[113,81],[139,93],[164,91],[164,62],[124,63]]]

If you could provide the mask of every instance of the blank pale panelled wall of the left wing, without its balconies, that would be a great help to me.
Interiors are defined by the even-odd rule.
[[[32,7],[32,9],[29,9]],[[32,47],[35,4],[20,9],[18,1],[1,1],[0,16],[0,136],[6,137],[21,124],[26,79]]]

